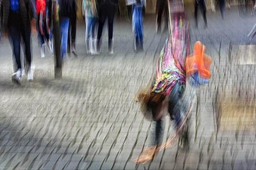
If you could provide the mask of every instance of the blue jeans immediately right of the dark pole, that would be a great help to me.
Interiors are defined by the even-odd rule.
[[[69,17],[60,18],[60,29],[61,29],[61,60],[66,59],[67,55],[67,36],[68,36],[68,26]]]

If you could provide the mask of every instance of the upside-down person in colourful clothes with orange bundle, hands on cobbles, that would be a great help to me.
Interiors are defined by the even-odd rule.
[[[212,59],[204,54],[206,47],[201,42],[195,43],[194,54],[189,55],[189,20],[186,19],[183,9],[180,9],[181,5],[181,2],[180,6],[170,5],[173,7],[173,13],[169,15],[172,22],[169,27],[171,34],[157,59],[150,90],[146,89],[147,93],[143,92],[138,95],[138,99],[147,108],[145,111],[152,111],[153,122],[148,135],[149,144],[143,148],[138,159],[134,161],[135,163],[144,164],[150,161],[156,152],[170,147],[174,137],[187,140],[188,124],[186,122],[191,111],[181,109],[186,78],[191,76],[193,79],[191,82],[197,86],[208,83],[211,76],[209,68]],[[160,145],[163,140],[163,118],[167,110],[170,119],[175,122],[175,133],[165,144]],[[184,147],[182,143],[180,142],[180,147]]]

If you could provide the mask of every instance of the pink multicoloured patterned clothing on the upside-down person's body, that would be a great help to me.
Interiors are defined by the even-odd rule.
[[[189,54],[189,24],[182,17],[175,18],[174,34],[168,37],[157,60],[151,92],[168,96],[176,82],[186,86],[185,59]]]

